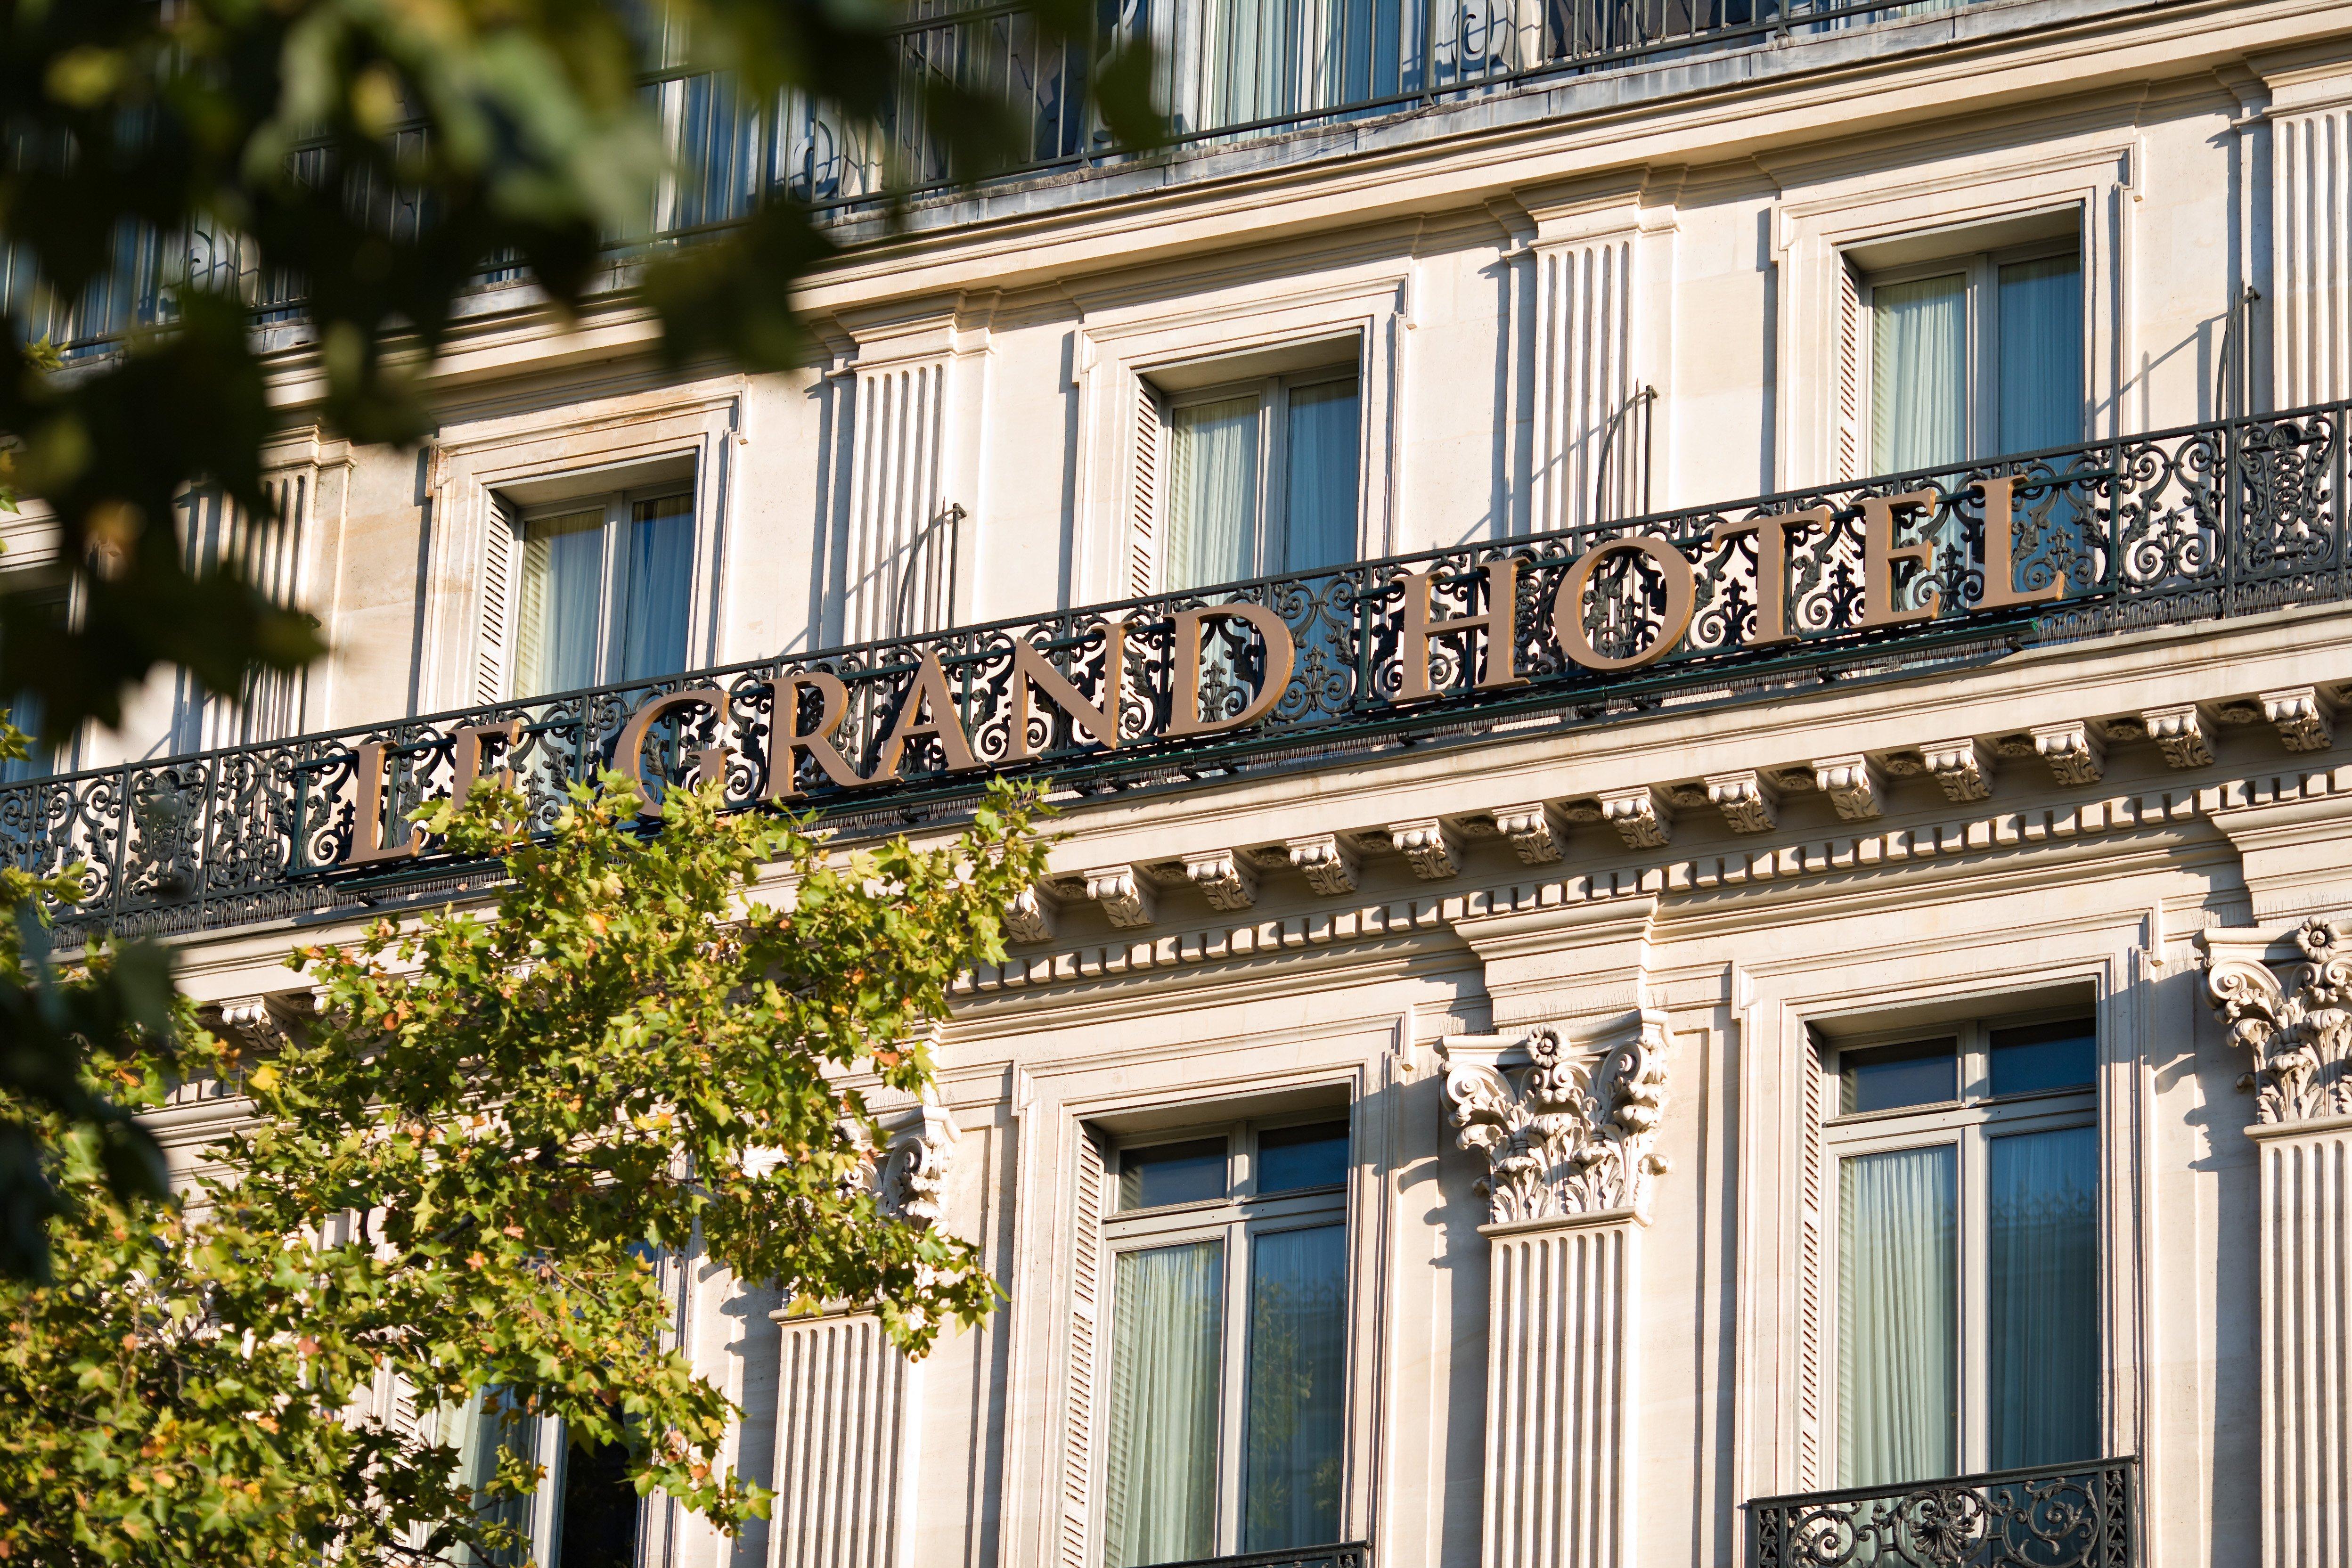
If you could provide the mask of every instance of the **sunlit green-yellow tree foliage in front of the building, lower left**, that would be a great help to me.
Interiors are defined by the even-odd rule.
[[[851,856],[715,795],[663,804],[642,832],[607,776],[541,839],[513,790],[435,806],[506,858],[496,912],[299,950],[318,1016],[268,1056],[193,1034],[176,1070],[254,1107],[195,1194],[118,1199],[101,1140],[49,1114],[56,1284],[0,1284],[0,1561],[501,1552],[499,1502],[546,1474],[520,1422],[487,1476],[445,1441],[435,1413],[485,1392],[626,1443],[640,1493],[731,1530],[769,1493],[722,1467],[739,1410],[668,1342],[652,1255],[873,1302],[917,1356],[990,1312],[969,1241],[877,1201],[856,1084],[931,1088],[948,985],[1002,959],[1000,910],[1042,867],[1030,799]],[[0,936],[5,966],[38,985]],[[118,1074],[143,1107],[174,1079],[148,1041]],[[421,1418],[383,1418],[395,1387]]]

